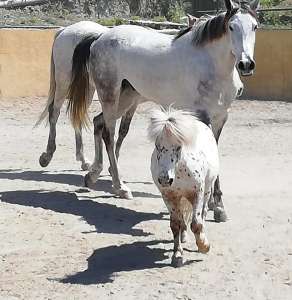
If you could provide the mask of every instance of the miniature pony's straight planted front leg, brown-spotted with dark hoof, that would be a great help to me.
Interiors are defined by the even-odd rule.
[[[173,267],[181,267],[183,265],[183,248],[181,245],[181,220],[177,214],[172,212],[170,215],[170,228],[173,234],[174,248],[171,258],[171,265]]]

